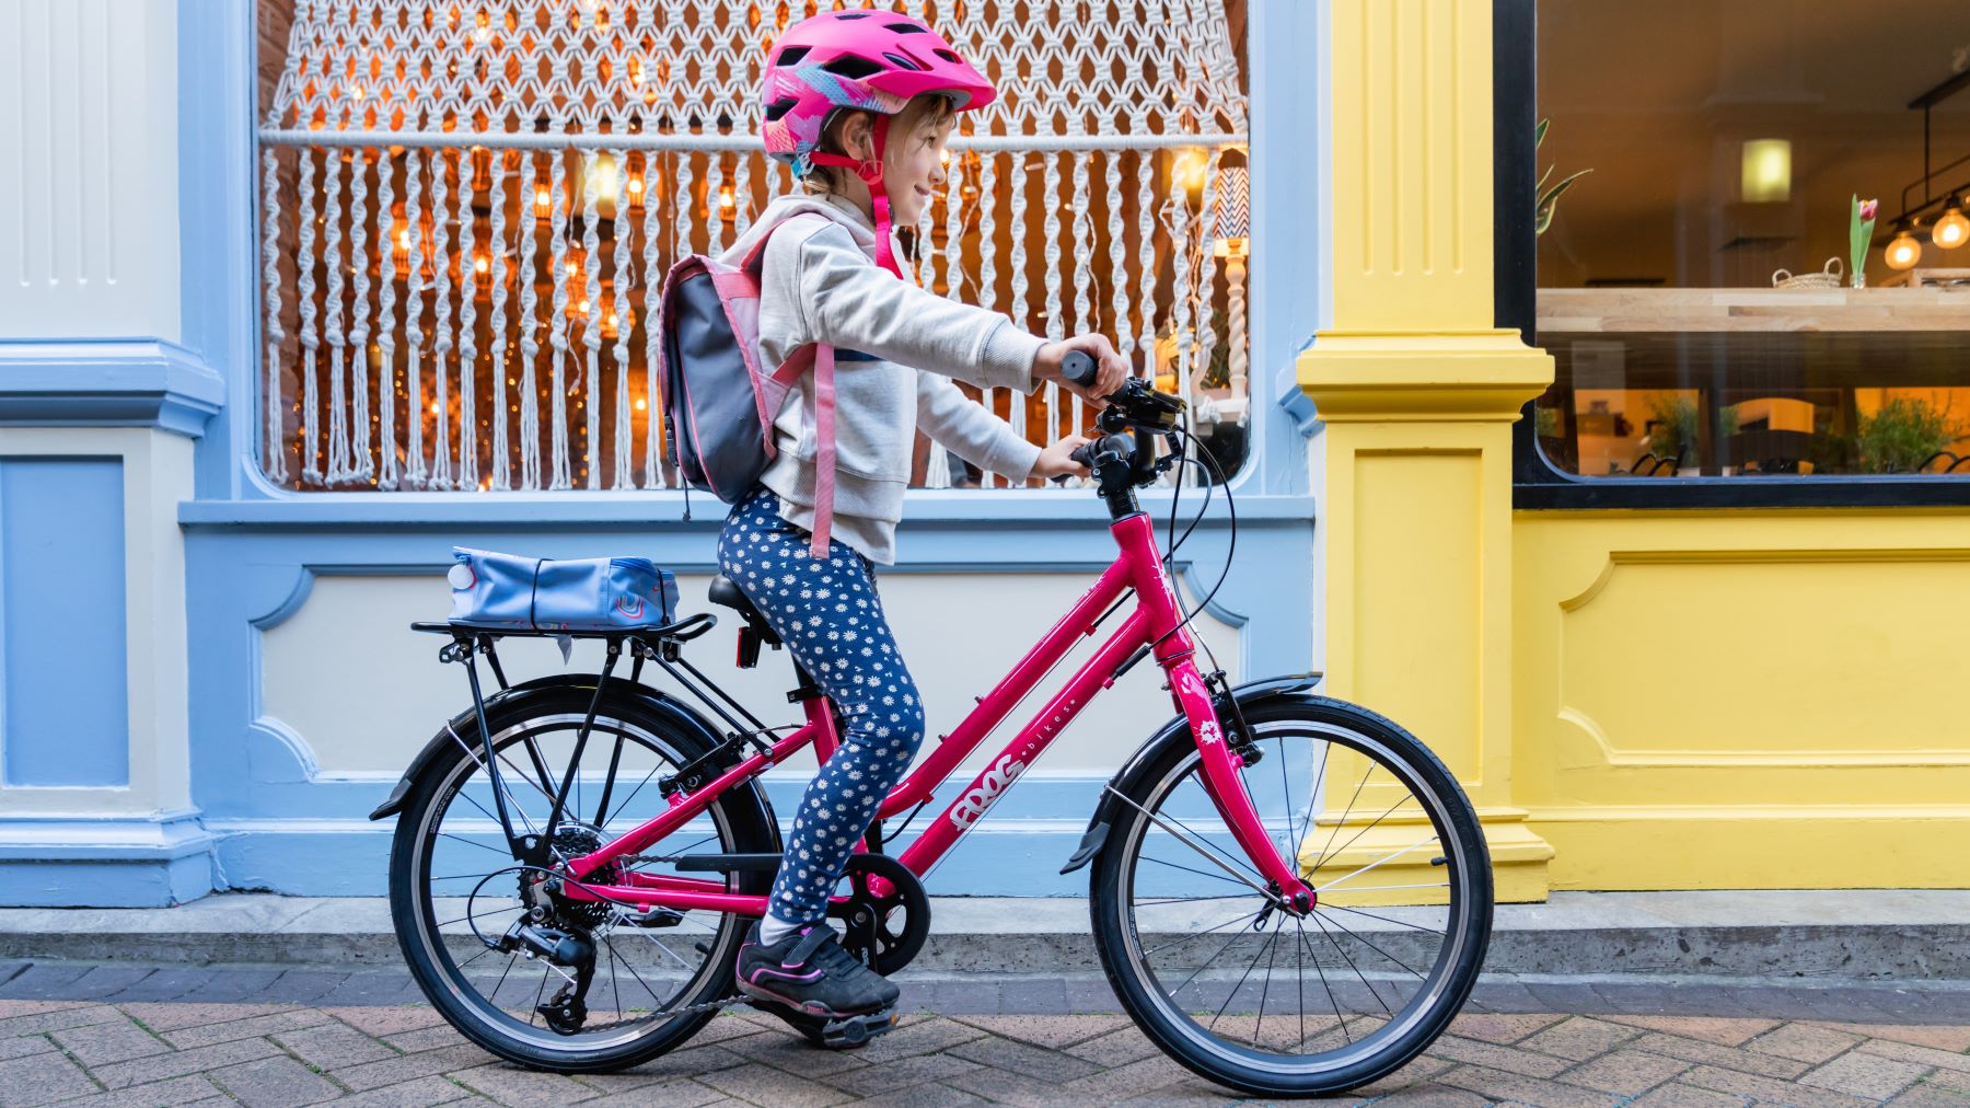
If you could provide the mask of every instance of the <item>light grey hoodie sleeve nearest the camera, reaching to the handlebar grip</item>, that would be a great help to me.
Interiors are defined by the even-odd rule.
[[[997,312],[898,280],[873,264],[847,229],[827,225],[798,239],[796,270],[796,300],[814,341],[983,388],[1032,392],[1032,363],[1046,339]]]

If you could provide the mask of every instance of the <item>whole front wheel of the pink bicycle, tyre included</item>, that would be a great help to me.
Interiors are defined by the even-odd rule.
[[[1200,755],[1135,775],[1093,867],[1101,964],[1172,1059],[1259,1096],[1379,1080],[1464,1005],[1491,933],[1491,864],[1456,779],[1397,724],[1328,698],[1253,706],[1239,771],[1316,889],[1298,915],[1231,840]]]

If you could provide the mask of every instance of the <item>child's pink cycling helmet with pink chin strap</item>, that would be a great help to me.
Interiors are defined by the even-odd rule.
[[[796,173],[810,166],[843,166],[869,183],[875,199],[877,262],[898,272],[888,248],[888,195],[883,189],[883,146],[888,118],[912,97],[940,93],[957,110],[983,108],[997,89],[944,37],[914,16],[885,10],[823,12],[802,20],[772,43],[766,63],[766,154]],[[839,108],[877,114],[875,162],[859,164],[816,150]]]

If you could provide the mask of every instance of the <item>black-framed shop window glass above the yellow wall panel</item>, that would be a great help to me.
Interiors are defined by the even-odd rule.
[[[1535,57],[1552,469],[1970,477],[1970,4],[1537,0]]]

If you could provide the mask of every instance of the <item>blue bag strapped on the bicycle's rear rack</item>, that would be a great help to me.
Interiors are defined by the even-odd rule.
[[[676,621],[678,580],[648,558],[526,558],[451,548],[451,623],[498,631],[634,631]]]

